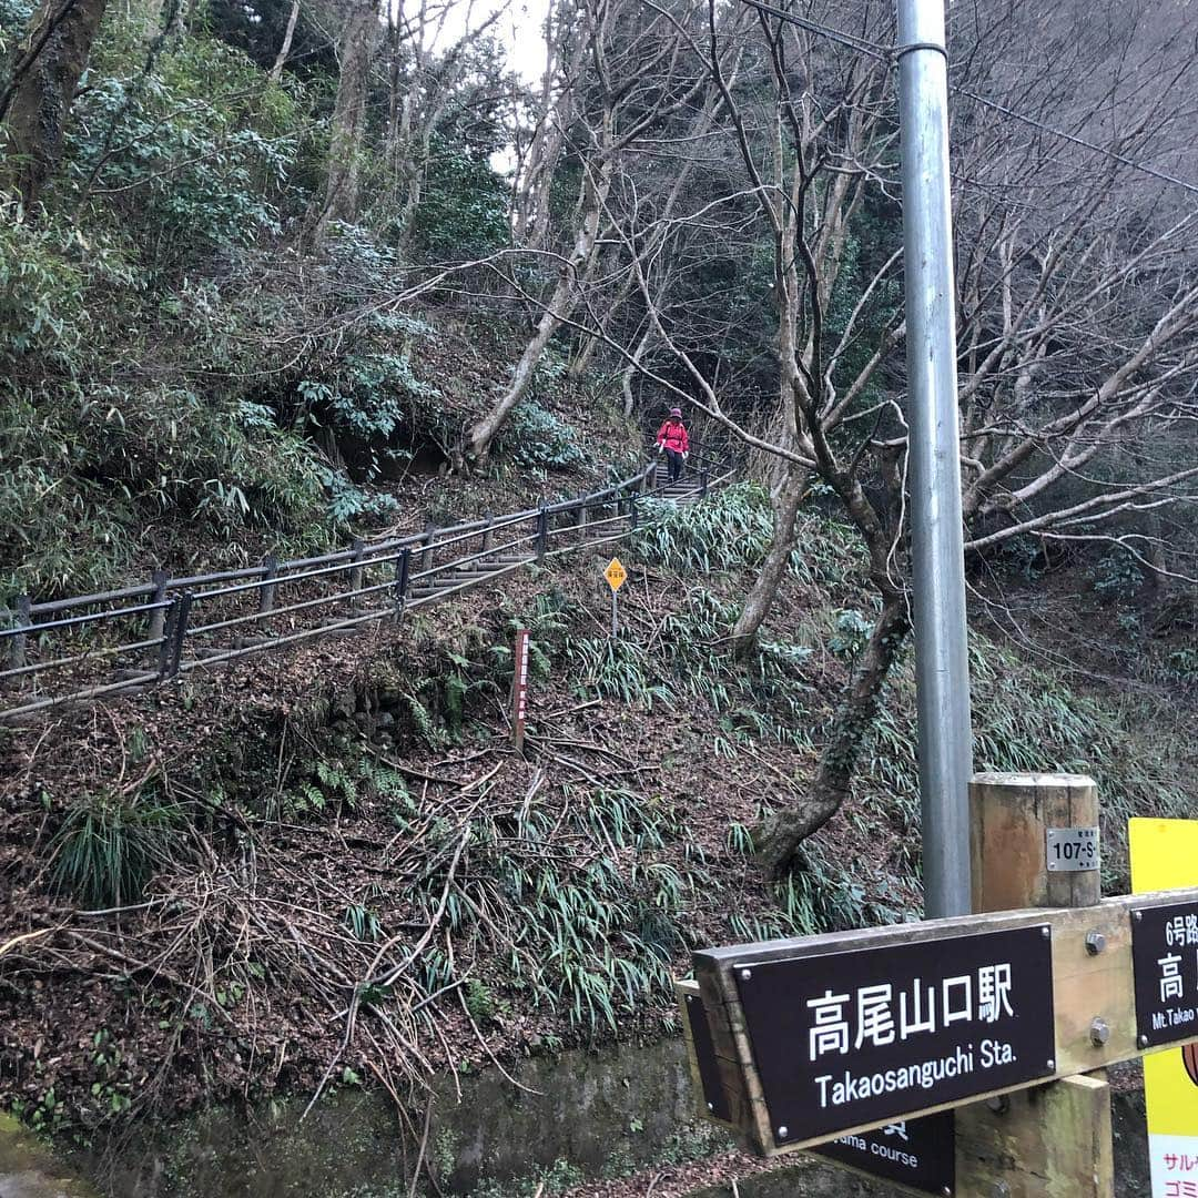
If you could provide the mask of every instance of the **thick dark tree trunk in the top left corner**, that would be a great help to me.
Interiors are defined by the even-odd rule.
[[[26,212],[58,167],[75,89],[105,5],[107,0],[44,0],[0,97],[0,119],[6,120],[0,134],[0,187],[14,189]]]

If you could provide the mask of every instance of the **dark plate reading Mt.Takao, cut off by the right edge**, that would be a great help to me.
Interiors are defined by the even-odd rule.
[[[1131,914],[1136,1035],[1140,1048],[1198,1039],[1198,903]]]

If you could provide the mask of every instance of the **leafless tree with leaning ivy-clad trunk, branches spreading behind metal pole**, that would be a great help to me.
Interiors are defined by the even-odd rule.
[[[1066,23],[1046,28],[1023,11],[979,11],[1002,17],[1003,36],[996,37],[999,29],[991,24],[985,36],[973,31],[974,38],[966,36],[957,47],[973,72],[968,86],[990,89],[981,101],[964,92],[956,128],[962,458],[973,552],[1030,532],[1109,536],[1109,522],[1130,510],[1192,498],[1198,479],[1192,465],[1196,218],[1192,208],[1166,198],[1166,186],[1146,183],[1132,163],[1173,144],[1182,111],[1178,89],[1190,63],[1179,54],[1162,72],[1167,56],[1157,46],[1149,69],[1148,60],[1133,54],[1136,23],[1120,22],[1115,8],[1103,26],[1106,40],[1090,36],[1072,59],[1064,43],[1076,29]],[[804,10],[804,16],[812,14]],[[843,23],[842,11],[840,17]],[[734,635],[751,637],[769,610],[811,477],[835,492],[859,533],[877,601],[871,635],[806,794],[776,812],[758,837],[766,860],[781,869],[848,795],[909,625],[904,401],[901,393],[883,391],[864,403],[866,388],[898,376],[897,314],[879,320],[873,307],[865,320],[897,254],[854,280],[843,329],[829,320],[854,217],[867,195],[890,187],[894,114],[881,62],[845,61],[801,26],[768,16],[758,37],[768,49],[770,90],[754,109],[720,78],[718,44],[728,35],[714,4],[709,24],[713,78],[775,247],[778,420],[773,430],[751,435],[727,419],[746,442],[782,462],[775,474],[775,537]],[[887,41],[888,16],[870,5],[854,11],[852,24],[867,40]],[[1060,47],[1049,34],[1060,35]],[[1002,55],[996,46],[1004,47]],[[1012,56],[1021,69],[1011,68]],[[1120,67],[1115,81],[1095,95],[1066,86],[1070,68],[1081,73],[1084,65],[1093,75],[1099,62]],[[755,81],[760,86],[760,78]],[[996,117],[996,105],[1002,115],[1029,102],[1039,103],[1041,121],[1065,121],[1085,138],[1028,137],[1027,122]],[[1101,143],[1096,150],[1085,144],[1094,138]],[[648,286],[646,295],[653,314]],[[847,353],[865,323],[869,352]],[[660,320],[655,328],[685,361],[698,405],[725,418],[716,389],[694,359]],[[1145,472],[1143,455],[1127,449],[1162,434],[1184,442],[1188,460]]]

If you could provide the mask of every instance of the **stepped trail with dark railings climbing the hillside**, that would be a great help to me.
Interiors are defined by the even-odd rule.
[[[646,500],[695,502],[732,477],[692,450],[678,482],[657,460],[601,491],[428,528],[320,557],[169,577],[0,610],[0,722],[161,685],[254,653],[347,635],[561,553],[635,531]]]

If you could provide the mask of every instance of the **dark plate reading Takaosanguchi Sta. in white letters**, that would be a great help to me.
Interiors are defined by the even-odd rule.
[[[774,1144],[1055,1070],[1047,925],[733,967]]]

